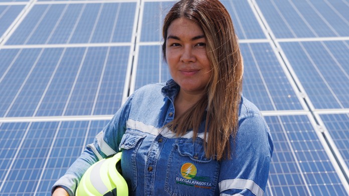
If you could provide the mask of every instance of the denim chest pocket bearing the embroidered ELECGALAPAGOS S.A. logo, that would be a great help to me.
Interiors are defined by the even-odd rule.
[[[165,191],[170,195],[214,195],[220,164],[206,158],[204,140],[179,140],[170,152],[165,180]],[[219,193],[219,192],[218,192]]]

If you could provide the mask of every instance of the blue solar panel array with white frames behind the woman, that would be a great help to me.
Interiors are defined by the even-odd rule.
[[[266,195],[349,194],[349,2],[222,0],[274,138]],[[0,195],[47,195],[135,89],[174,1],[0,1]]]

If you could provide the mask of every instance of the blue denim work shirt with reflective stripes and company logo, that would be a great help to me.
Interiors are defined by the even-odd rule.
[[[73,195],[91,164],[122,150],[130,195],[262,195],[273,142],[258,108],[242,97],[231,159],[206,158],[204,126],[194,142],[191,130],[177,137],[162,128],[175,116],[179,88],[170,79],[136,90],[53,189],[63,186]]]

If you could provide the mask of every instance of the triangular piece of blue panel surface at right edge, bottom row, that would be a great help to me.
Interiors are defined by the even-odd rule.
[[[322,114],[323,123],[331,135],[346,166],[349,167],[349,113]]]

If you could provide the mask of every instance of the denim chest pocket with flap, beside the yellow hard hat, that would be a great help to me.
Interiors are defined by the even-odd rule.
[[[126,130],[119,145],[119,150],[122,150],[122,176],[127,181],[128,186],[131,186],[130,188],[132,191],[134,191],[137,187],[136,154],[145,136],[146,134],[144,133]]]

